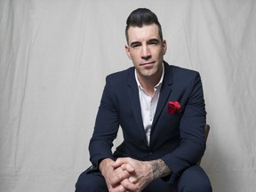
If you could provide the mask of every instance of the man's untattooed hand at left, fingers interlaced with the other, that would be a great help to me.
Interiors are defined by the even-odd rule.
[[[129,180],[132,172],[135,172],[131,164],[113,168],[112,159],[106,158],[100,162],[100,172],[104,176],[109,192],[137,191],[139,186]],[[135,182],[135,181],[133,181]],[[125,188],[128,187],[129,188]]]

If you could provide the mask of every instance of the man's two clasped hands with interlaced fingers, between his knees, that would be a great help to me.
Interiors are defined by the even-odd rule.
[[[104,159],[100,162],[109,192],[140,192],[153,180],[152,165],[130,157]]]

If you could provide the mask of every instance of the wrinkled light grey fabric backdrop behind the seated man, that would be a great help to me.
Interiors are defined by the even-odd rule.
[[[202,76],[213,190],[255,191],[255,2],[0,0],[0,191],[74,191],[105,76],[132,66],[124,28],[138,7],[162,23],[164,60]]]

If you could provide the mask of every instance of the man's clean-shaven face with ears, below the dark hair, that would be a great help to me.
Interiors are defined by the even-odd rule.
[[[166,49],[166,42],[161,40],[156,24],[128,29],[125,50],[136,68],[139,80],[160,78]]]

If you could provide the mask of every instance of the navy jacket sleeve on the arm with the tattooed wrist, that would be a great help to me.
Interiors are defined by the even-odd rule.
[[[186,168],[196,164],[204,155],[206,112],[202,82],[197,72],[188,87],[188,98],[182,103],[184,106],[180,119],[180,146],[162,157],[173,172],[172,180]]]

